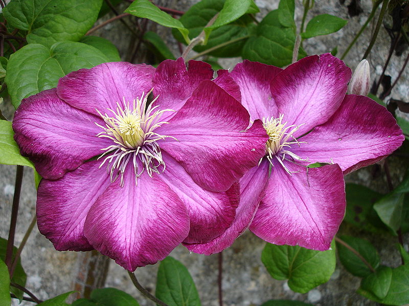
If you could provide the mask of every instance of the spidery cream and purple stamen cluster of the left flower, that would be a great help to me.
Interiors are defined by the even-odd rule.
[[[130,103],[123,99],[122,106],[117,103],[117,109],[108,109],[111,116],[97,110],[98,114],[105,121],[105,126],[97,124],[103,130],[97,137],[106,137],[113,141],[113,144],[102,148],[105,152],[99,157],[105,156],[100,168],[107,162],[107,170],[111,183],[121,176],[121,187],[124,185],[124,172],[129,162],[133,165],[135,173],[135,184],[138,177],[146,170],[149,176],[153,173],[163,173],[165,163],[162,159],[161,148],[158,141],[172,136],[159,135],[153,132],[157,127],[169,122],[160,121],[165,112],[173,110],[158,110],[159,106],[151,107],[153,102],[146,107],[148,95],[142,93],[141,98],[136,98]]]

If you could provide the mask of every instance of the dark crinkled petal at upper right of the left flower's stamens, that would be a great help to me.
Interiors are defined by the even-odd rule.
[[[153,106],[178,111],[203,80],[212,78],[213,69],[208,63],[192,60],[187,69],[183,58],[165,60],[157,66],[153,75],[153,95],[159,95]],[[173,114],[168,118],[171,116]],[[168,118],[163,116],[162,120]]]

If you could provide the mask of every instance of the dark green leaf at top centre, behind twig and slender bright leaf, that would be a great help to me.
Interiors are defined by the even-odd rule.
[[[224,0],[202,0],[181,16],[179,20],[189,30],[189,37],[194,38],[198,36],[209,20],[223,8],[223,5]],[[244,15],[227,25],[214,29],[210,33],[206,45],[196,45],[193,49],[196,52],[203,52],[209,48],[234,40],[235,42],[217,48],[209,53],[209,55],[215,57],[240,56],[246,39],[255,27],[253,19],[248,15]],[[183,37],[177,31],[172,31],[172,34],[178,41],[184,42]]]

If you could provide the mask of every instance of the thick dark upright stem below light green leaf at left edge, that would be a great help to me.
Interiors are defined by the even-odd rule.
[[[13,258],[14,236],[16,233],[18,205],[20,202],[20,191],[21,191],[23,171],[24,171],[24,167],[18,165],[16,169],[16,180],[14,184],[15,187],[14,187],[14,196],[13,196],[13,206],[11,208],[9,238],[7,240],[6,258],[4,260],[5,264],[9,268],[9,273],[11,272],[11,262]]]

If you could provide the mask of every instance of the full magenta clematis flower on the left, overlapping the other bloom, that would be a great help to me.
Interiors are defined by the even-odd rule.
[[[97,249],[133,271],[230,227],[235,182],[268,136],[261,120],[247,129],[228,73],[212,78],[183,59],[105,63],[22,100],[15,140],[43,177],[38,227],[57,250]]]

